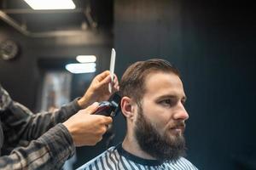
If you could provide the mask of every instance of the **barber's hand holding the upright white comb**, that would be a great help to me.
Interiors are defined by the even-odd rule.
[[[87,89],[84,96],[79,99],[78,103],[80,107],[85,108],[94,102],[107,100],[111,94],[119,90],[119,81],[116,75],[113,77],[111,94],[108,91],[109,82],[111,82],[110,71],[104,71],[97,75],[90,83],[90,87]]]

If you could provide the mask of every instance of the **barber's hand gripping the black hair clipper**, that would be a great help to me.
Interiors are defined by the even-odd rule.
[[[102,135],[112,123],[110,116],[90,115],[99,104],[94,103],[84,110],[70,117],[63,125],[73,138],[75,146],[95,145],[102,140]]]

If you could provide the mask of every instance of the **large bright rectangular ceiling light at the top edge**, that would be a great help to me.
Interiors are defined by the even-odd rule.
[[[72,0],[24,0],[35,10],[45,9],[74,9],[76,8]]]

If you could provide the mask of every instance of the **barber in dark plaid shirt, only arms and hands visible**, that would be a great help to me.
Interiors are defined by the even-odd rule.
[[[0,86],[0,169],[61,169],[75,146],[100,141],[112,119],[90,114],[98,106],[94,102],[108,99],[110,82],[110,72],[104,71],[82,98],[54,113],[38,114],[13,101]],[[116,76],[112,85],[113,91],[119,89]]]

